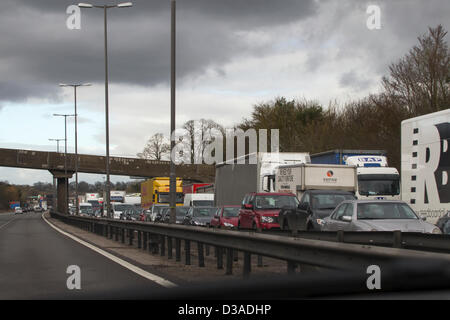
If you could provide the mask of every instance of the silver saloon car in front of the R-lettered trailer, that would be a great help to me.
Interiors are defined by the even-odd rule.
[[[441,233],[404,201],[348,200],[324,219],[323,231],[395,231]]]

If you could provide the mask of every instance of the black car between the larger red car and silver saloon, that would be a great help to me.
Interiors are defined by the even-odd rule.
[[[320,231],[323,219],[345,200],[355,200],[352,192],[341,190],[307,190],[297,208],[283,208],[278,222],[283,230]]]

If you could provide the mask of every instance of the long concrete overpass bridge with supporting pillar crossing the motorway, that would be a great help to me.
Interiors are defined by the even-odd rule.
[[[57,179],[58,211],[67,212],[65,201],[68,179],[75,173],[75,154],[0,148],[0,166],[48,170]],[[134,177],[168,177],[170,161],[110,157],[110,174]],[[67,172],[67,173],[66,173]],[[78,172],[106,174],[106,157],[78,154]],[[177,177],[184,180],[214,181],[215,168],[210,165],[184,164],[176,166]]]

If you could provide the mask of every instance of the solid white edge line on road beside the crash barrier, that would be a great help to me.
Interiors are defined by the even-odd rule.
[[[98,247],[96,247],[96,246],[94,246],[94,245],[84,241],[84,240],[81,240],[78,237],[75,237],[74,235],[71,235],[70,233],[67,233],[67,232],[59,229],[58,227],[53,225],[50,221],[48,221],[44,217],[44,214],[42,214],[42,219],[44,219],[44,221],[47,222],[50,227],[52,227],[53,229],[55,229],[59,233],[62,233],[66,237],[69,237],[72,240],[75,240],[76,242],[78,242],[78,243],[88,247],[91,250],[94,250],[95,252],[101,254],[102,256],[104,256],[104,257],[106,257],[106,258],[108,258],[108,259],[110,259],[112,261],[114,261],[115,263],[120,264],[122,267],[125,267],[125,268],[127,268],[128,270],[130,270],[130,271],[132,271],[134,273],[137,273],[141,277],[144,277],[144,278],[146,278],[146,279],[148,279],[150,281],[156,282],[157,284],[159,284],[159,285],[161,285],[163,287],[166,287],[166,288],[173,288],[173,287],[177,286],[175,283],[173,283],[173,282],[171,282],[169,280],[166,280],[166,279],[161,278],[161,277],[159,277],[159,276],[157,276],[155,274],[147,272],[147,271],[145,271],[145,270],[143,270],[143,269],[141,269],[141,268],[139,268],[139,267],[137,267],[137,266],[135,266],[135,265],[133,265],[133,264],[123,260],[123,259],[120,259],[120,258],[118,258],[118,257],[116,257],[116,256],[114,256],[114,255],[112,255],[112,254],[110,254],[110,253],[108,253],[108,252],[106,252],[106,251],[104,251],[104,250],[102,250],[102,249],[100,249],[100,248],[98,248]]]

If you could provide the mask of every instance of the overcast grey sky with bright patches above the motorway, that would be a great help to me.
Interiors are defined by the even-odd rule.
[[[105,153],[103,12],[82,9],[81,29],[70,30],[75,3],[2,0],[1,148],[55,150],[48,139],[64,138],[64,121],[52,114],[73,113],[73,91],[58,83],[90,82],[78,91],[79,152]],[[379,30],[366,26],[369,5],[381,9]],[[379,92],[388,65],[449,21],[448,0],[178,0],[177,125],[210,118],[231,127],[278,96],[327,106]],[[133,157],[170,128],[170,1],[110,9],[108,42],[111,154]],[[73,122],[68,130],[73,151]],[[0,180],[51,175],[0,168]]]

